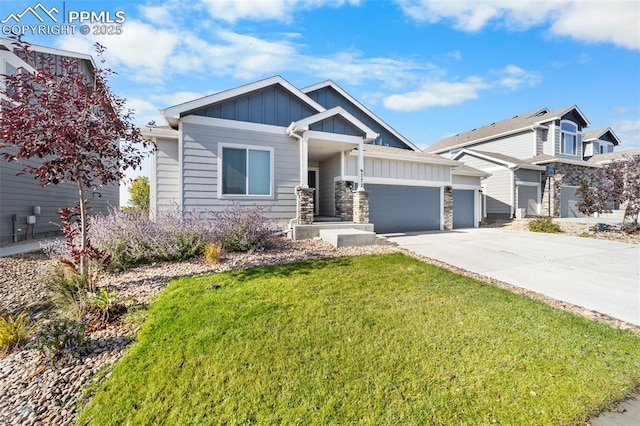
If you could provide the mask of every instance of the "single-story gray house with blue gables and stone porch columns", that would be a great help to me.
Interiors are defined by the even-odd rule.
[[[333,81],[275,76],[162,114],[168,126],[143,129],[157,145],[152,211],[261,205],[293,238],[321,220],[379,233],[480,221],[485,172],[422,152]]]

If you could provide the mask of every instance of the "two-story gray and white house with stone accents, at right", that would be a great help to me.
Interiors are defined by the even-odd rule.
[[[610,128],[585,132],[589,124],[576,105],[541,108],[450,136],[426,151],[491,173],[482,183],[485,217],[576,217],[576,190],[600,167],[586,160],[620,144]]]

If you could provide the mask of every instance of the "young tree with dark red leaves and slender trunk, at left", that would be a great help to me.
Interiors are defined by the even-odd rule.
[[[34,52],[19,38],[17,49],[35,63]],[[105,48],[96,44],[104,63]],[[0,150],[6,161],[20,162],[19,174],[33,174],[41,186],[73,182],[78,186],[80,216],[80,273],[86,273],[88,193],[118,183],[125,170],[137,168],[149,146],[133,124],[125,99],[109,89],[110,69],[96,68],[90,75],[77,60],[41,58],[35,72],[20,69],[4,75],[0,89]],[[6,148],[10,148],[6,150]],[[25,160],[37,159],[37,165]]]

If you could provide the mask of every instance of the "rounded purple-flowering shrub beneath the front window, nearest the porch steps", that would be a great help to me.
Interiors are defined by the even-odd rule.
[[[279,237],[275,221],[260,206],[234,204],[216,215],[212,240],[227,252],[256,251],[277,245]]]

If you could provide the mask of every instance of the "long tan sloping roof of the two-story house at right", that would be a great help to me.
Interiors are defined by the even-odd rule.
[[[463,148],[474,143],[491,140],[501,136],[531,131],[537,127],[544,128],[545,123],[561,119],[572,111],[575,111],[578,114],[578,117],[583,120],[582,124],[584,127],[589,125],[589,121],[587,121],[584,114],[582,114],[582,111],[580,111],[576,105],[560,108],[555,111],[549,111],[547,108],[538,108],[506,120],[491,123],[487,126],[449,136],[434,145],[431,145],[426,149],[426,151],[442,153],[451,149]]]

